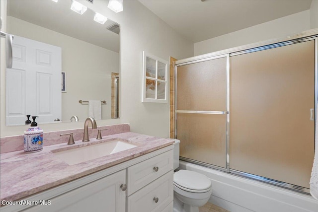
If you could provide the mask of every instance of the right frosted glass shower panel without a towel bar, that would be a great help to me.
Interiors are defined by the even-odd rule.
[[[231,172],[309,188],[315,41],[230,57]]]

